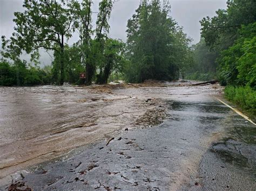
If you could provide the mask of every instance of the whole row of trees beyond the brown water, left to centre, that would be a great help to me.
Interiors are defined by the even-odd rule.
[[[0,85],[83,84],[82,72],[88,85],[107,83],[118,74],[127,82],[185,77],[193,62],[191,39],[169,16],[170,4],[143,0],[128,20],[125,44],[108,36],[114,2],[100,1],[92,27],[92,0],[25,0],[25,11],[14,13],[15,32],[10,39],[2,37]],[[74,32],[79,40],[69,46]],[[38,67],[40,49],[53,53],[47,73]],[[31,55],[31,63],[20,59],[23,53]]]

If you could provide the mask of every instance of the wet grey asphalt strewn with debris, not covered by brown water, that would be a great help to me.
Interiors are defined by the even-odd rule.
[[[159,126],[123,129],[107,146],[81,147],[14,179],[33,190],[255,190],[253,124],[210,95],[166,105]]]

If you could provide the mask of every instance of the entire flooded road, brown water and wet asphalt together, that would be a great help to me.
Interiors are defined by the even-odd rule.
[[[0,92],[5,187],[12,178],[21,179],[21,172],[34,190],[255,186],[255,126],[215,100],[218,86],[45,86]]]

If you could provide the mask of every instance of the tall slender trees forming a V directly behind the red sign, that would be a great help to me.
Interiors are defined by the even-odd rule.
[[[97,76],[96,81],[98,83],[106,83],[107,77],[112,69],[112,63],[115,56],[108,56],[106,59],[106,52],[109,51],[109,41],[107,33],[110,26],[108,20],[113,8],[114,1],[102,0],[99,2],[99,11],[96,20],[96,29],[92,30],[92,1],[83,0],[82,3],[75,2],[73,5],[73,11],[79,20],[79,33],[80,39],[77,43],[79,47],[79,58],[81,65],[86,69],[86,84],[90,85],[93,78]],[[95,36],[95,39],[93,39]],[[114,41],[114,40],[113,40]],[[111,60],[112,59],[112,60]],[[97,74],[97,70],[100,74]],[[103,71],[104,70],[104,71]],[[107,72],[109,71],[109,72]]]

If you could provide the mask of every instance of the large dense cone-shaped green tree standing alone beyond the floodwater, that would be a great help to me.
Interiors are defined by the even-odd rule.
[[[167,2],[144,0],[128,20],[127,81],[178,79],[179,69],[185,69],[190,39],[168,16],[169,11]]]

